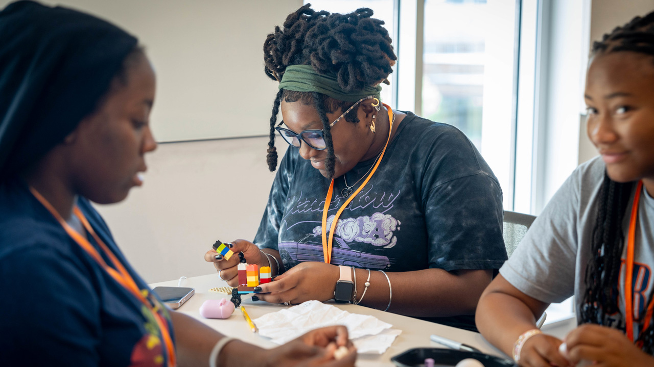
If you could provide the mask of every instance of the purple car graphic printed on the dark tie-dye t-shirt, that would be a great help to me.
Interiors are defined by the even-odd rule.
[[[298,242],[279,242],[279,255],[281,255],[282,263],[286,269],[290,269],[304,261],[322,262],[324,261],[322,239],[315,237],[313,234],[307,234]],[[334,236],[331,263],[368,269],[386,269],[390,266],[388,257],[351,249],[350,244],[337,236]]]

